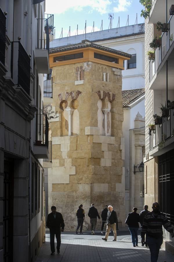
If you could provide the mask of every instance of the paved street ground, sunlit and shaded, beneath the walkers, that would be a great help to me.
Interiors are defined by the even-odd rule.
[[[42,245],[37,262],[150,262],[150,251],[142,247],[139,236],[139,246],[133,247],[129,231],[117,231],[117,242],[113,242],[113,233],[108,241],[102,240],[98,232],[95,236],[90,233],[76,235],[75,233],[61,234],[60,254],[50,253],[50,236],[46,233],[46,243]],[[55,239],[56,242],[56,239]],[[55,243],[56,247],[56,243]],[[173,262],[174,256],[160,249],[158,262]]]

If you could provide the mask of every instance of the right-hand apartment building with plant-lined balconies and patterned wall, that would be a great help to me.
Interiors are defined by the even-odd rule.
[[[160,210],[174,225],[174,5],[153,1],[145,22],[146,158],[145,204],[160,203]],[[151,52],[149,52],[151,51]],[[149,53],[147,53],[149,52]],[[164,230],[166,249],[172,238]],[[171,248],[173,250],[173,247]]]

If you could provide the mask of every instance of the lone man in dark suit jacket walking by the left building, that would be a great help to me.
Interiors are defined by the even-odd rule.
[[[56,207],[51,207],[51,213],[48,214],[46,226],[50,229],[50,246],[51,246],[51,255],[55,254],[55,244],[54,244],[54,238],[56,235],[57,240],[57,254],[60,253],[60,244],[61,244],[61,237],[60,233],[64,232],[64,219],[62,217],[62,214],[59,212],[56,212]]]

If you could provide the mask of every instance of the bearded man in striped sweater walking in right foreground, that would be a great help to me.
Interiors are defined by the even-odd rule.
[[[147,213],[144,217],[142,226],[142,243],[145,242],[145,234],[147,235],[147,244],[151,252],[151,262],[157,262],[160,247],[163,242],[162,226],[170,232],[173,238],[173,228],[165,215],[160,212],[160,207],[157,202],[152,205],[153,211]]]

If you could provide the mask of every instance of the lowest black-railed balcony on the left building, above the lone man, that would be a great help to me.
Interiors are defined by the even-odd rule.
[[[37,158],[42,159],[48,159],[49,153],[48,153],[48,131],[49,131],[49,123],[47,115],[44,117],[44,123],[42,122],[42,116],[43,115],[36,115],[37,119],[37,139],[35,142],[35,145],[33,147],[33,153]]]

